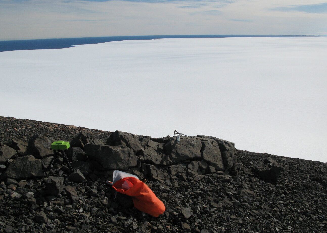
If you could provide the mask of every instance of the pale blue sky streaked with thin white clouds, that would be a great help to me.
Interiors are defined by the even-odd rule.
[[[327,0],[0,0],[0,40],[327,35]]]

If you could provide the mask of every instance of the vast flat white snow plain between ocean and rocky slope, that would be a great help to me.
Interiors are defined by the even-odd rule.
[[[0,53],[1,116],[327,162],[327,37],[127,40]]]

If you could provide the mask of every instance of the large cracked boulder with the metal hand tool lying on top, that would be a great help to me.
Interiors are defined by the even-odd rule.
[[[169,159],[165,161],[166,165],[179,163],[185,160],[201,159],[201,141],[190,137],[181,137],[181,141],[177,142],[173,137],[169,142],[163,145],[163,150]]]

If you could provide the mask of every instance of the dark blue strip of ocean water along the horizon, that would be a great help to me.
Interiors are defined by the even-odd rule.
[[[302,37],[282,35],[170,35],[170,36],[124,36],[124,37],[83,37],[63,39],[2,40],[0,52],[30,49],[63,49],[79,44],[97,44],[121,40],[145,40],[162,38],[224,38],[224,37]]]

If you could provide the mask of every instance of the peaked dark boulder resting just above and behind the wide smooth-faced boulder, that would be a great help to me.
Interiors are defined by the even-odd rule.
[[[139,137],[132,133],[127,132],[121,132],[116,130],[113,132],[107,142],[107,146],[127,146],[128,148],[131,148],[136,155],[143,155],[144,149],[142,147],[142,144],[139,140]]]

